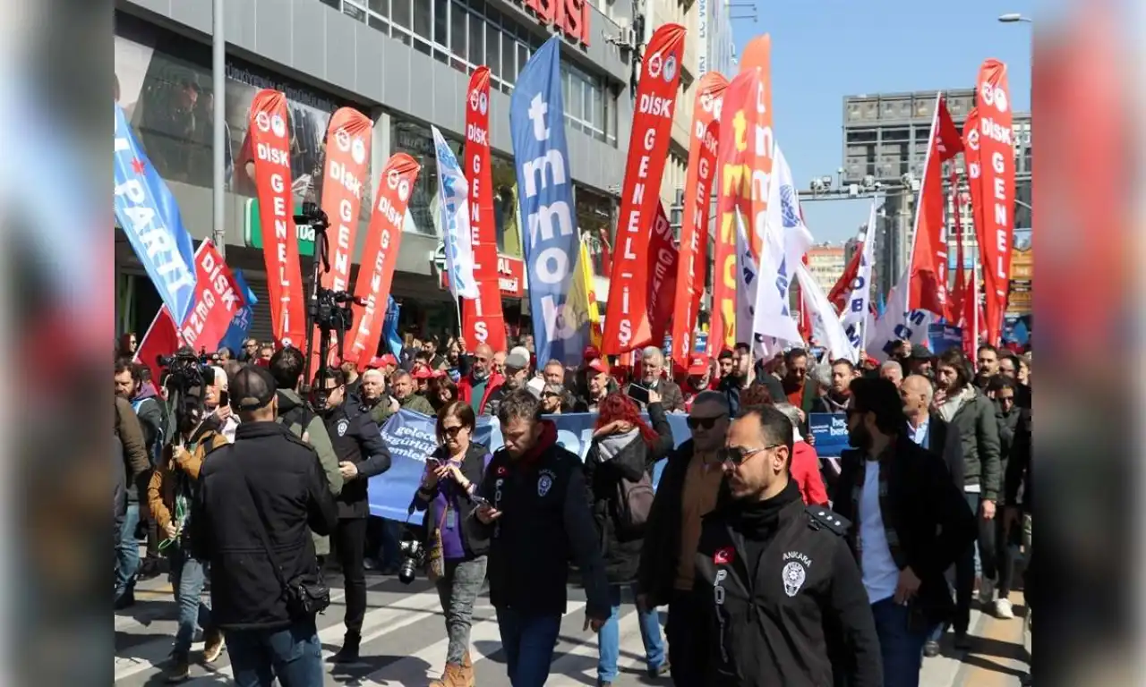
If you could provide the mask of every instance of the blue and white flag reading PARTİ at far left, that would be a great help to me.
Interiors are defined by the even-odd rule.
[[[195,305],[195,250],[175,197],[151,166],[116,104],[112,155],[116,220],[167,306],[175,326]]]

